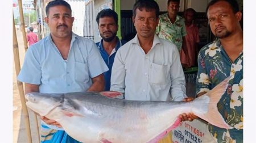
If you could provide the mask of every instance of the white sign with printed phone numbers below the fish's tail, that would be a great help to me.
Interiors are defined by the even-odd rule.
[[[216,143],[208,131],[208,124],[197,119],[183,121],[171,132],[174,143]]]

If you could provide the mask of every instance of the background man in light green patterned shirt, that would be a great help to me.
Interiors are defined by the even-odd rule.
[[[171,41],[177,46],[181,53],[181,49],[187,53],[185,44],[185,23],[181,16],[177,15],[180,8],[180,0],[168,0],[167,13],[159,16],[158,27],[156,28],[156,35],[162,39]]]

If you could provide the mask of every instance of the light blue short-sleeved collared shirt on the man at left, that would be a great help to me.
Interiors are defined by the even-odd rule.
[[[92,85],[91,78],[107,70],[92,40],[72,33],[65,61],[49,35],[28,48],[18,80],[39,85],[44,93],[82,92]]]

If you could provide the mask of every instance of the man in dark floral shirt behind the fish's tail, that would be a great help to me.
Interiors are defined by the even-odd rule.
[[[234,0],[213,0],[207,6],[207,16],[216,40],[200,50],[197,96],[232,76],[217,107],[234,129],[209,125],[209,131],[217,142],[243,142],[243,31],[239,23],[242,13]]]

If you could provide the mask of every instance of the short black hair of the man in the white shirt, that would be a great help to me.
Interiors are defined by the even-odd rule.
[[[136,10],[139,9],[142,11],[142,9],[145,8],[146,11],[155,10],[156,18],[159,16],[159,6],[158,3],[156,3],[154,0],[138,0],[133,5],[133,16],[135,18],[136,16]]]

